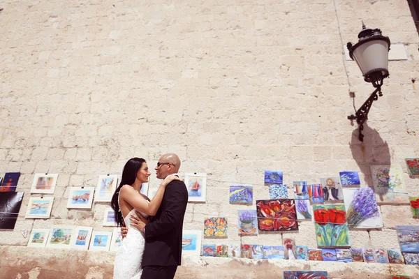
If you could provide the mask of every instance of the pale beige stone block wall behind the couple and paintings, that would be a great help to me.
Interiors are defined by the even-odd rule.
[[[297,234],[241,239],[236,212],[247,206],[229,204],[228,186],[253,184],[254,198],[266,199],[265,169],[281,169],[288,185],[357,170],[362,186],[371,186],[370,163],[406,172],[404,158],[419,156],[419,37],[404,0],[6,0],[0,8],[0,173],[21,172],[17,190],[25,192],[15,229],[0,232],[6,278],[110,278],[112,252],[26,248],[21,230],[103,230],[105,204],[68,210],[68,188],[121,174],[133,156],[154,166],[161,153],[175,152],[182,172],[207,172],[207,202],[188,205],[185,229],[203,229],[205,216],[228,217],[223,243],[279,244],[291,235],[310,248],[313,223],[301,223]],[[350,92],[360,107],[373,88],[344,55],[361,20],[402,45],[407,58],[390,61],[362,144],[346,119]],[[24,219],[36,172],[59,173],[47,220]],[[419,195],[417,180],[406,174],[406,184]],[[398,248],[395,225],[419,225],[409,206],[380,210],[383,229],[351,231],[352,246]],[[281,278],[296,267],[328,269],[331,278],[419,278],[416,267],[385,264],[184,262],[179,278],[232,271]]]

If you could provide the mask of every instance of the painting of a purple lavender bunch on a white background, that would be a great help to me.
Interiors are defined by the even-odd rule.
[[[344,188],[346,220],[351,229],[383,227],[372,188]]]

